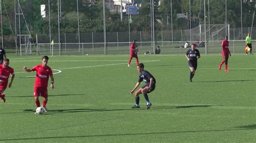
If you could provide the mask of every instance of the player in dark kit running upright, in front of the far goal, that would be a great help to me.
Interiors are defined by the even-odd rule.
[[[194,73],[197,70],[197,59],[200,58],[200,52],[195,47],[196,44],[192,44],[191,49],[188,49],[187,53],[185,54],[188,61],[188,66],[190,66],[190,82],[192,82]]]

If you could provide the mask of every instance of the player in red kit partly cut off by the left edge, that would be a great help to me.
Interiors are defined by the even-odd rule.
[[[4,90],[7,88],[8,79],[11,74],[11,82],[9,83],[9,88],[11,88],[12,81],[14,81],[14,69],[9,67],[9,59],[4,59],[3,64],[0,65],[0,97],[2,98],[2,102],[5,103],[5,94]]]

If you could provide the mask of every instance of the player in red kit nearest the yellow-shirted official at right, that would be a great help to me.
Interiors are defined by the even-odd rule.
[[[231,56],[230,49],[228,49],[228,46],[230,45],[230,42],[227,40],[228,37],[225,36],[225,39],[221,42],[221,47],[222,47],[222,57],[223,61],[221,61],[219,65],[219,70],[221,69],[221,66],[225,62],[225,71],[228,72],[230,70],[227,69],[227,61],[228,61],[228,55]]]

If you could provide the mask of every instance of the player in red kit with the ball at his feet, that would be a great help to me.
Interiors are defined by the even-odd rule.
[[[43,97],[43,105],[42,108],[44,109],[45,112],[48,112],[47,108],[46,108],[46,103],[48,102],[48,91],[47,91],[47,87],[48,87],[48,80],[49,80],[49,76],[51,77],[51,89],[54,88],[54,78],[53,78],[53,74],[52,74],[52,70],[49,66],[47,66],[49,57],[48,56],[43,56],[42,58],[42,65],[37,65],[31,69],[28,69],[26,67],[24,67],[23,69],[26,72],[31,72],[31,71],[36,71],[36,81],[35,81],[35,87],[34,87],[34,97],[35,97],[35,103],[36,106],[39,107],[40,106],[40,102],[39,102],[39,96]]]

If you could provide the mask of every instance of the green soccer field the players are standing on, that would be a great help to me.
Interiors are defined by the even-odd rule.
[[[185,54],[139,55],[157,81],[149,110],[143,95],[131,109],[139,73],[129,55],[49,57],[55,89],[43,115],[34,114],[36,73],[22,69],[41,56],[8,58],[15,79],[0,103],[0,142],[256,142],[255,55],[232,55],[228,73],[221,55],[201,55],[193,82]]]

